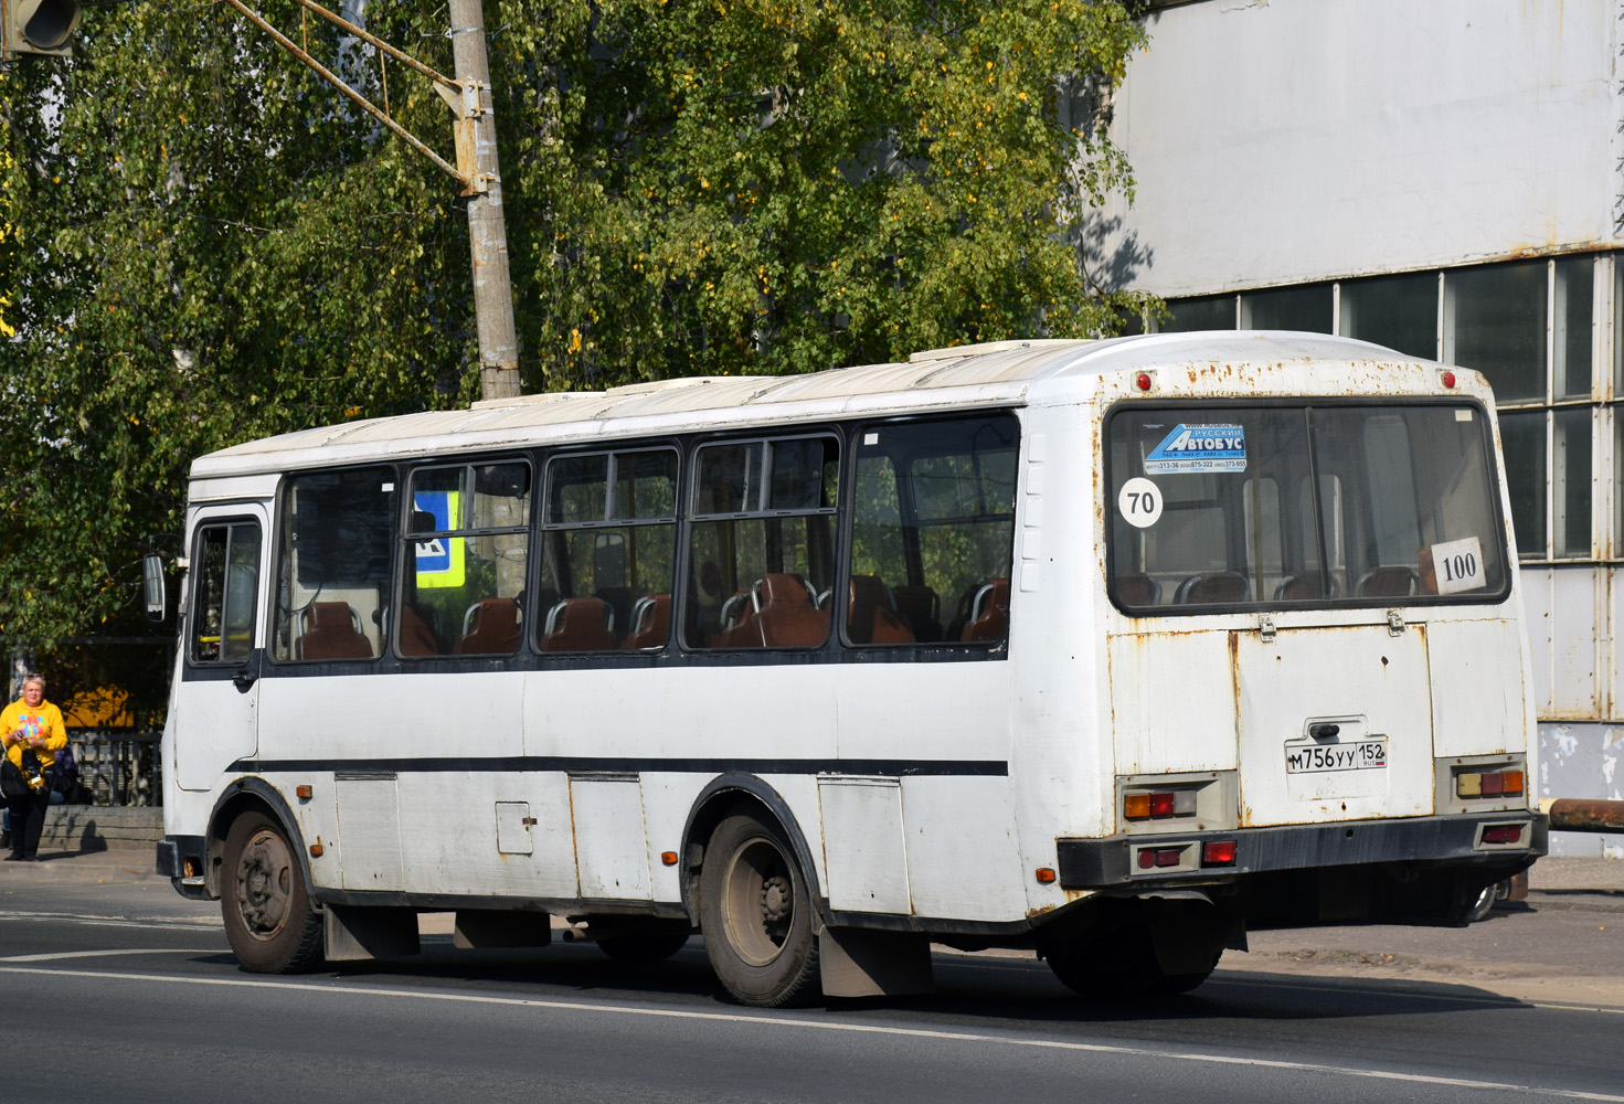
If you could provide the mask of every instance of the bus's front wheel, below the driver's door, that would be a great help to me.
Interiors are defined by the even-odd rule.
[[[283,826],[260,812],[231,822],[219,893],[226,938],[253,974],[296,974],[322,961],[322,914]]]

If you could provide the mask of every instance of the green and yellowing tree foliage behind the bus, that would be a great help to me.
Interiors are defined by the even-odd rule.
[[[1130,187],[1091,106],[1130,6],[487,5],[526,388],[1111,331],[1140,304],[1078,242]],[[370,49],[261,11],[383,99]],[[442,5],[367,19],[451,71]],[[425,81],[388,102],[450,154]],[[89,8],[0,115],[0,638],[125,622],[193,456],[476,395],[455,187],[227,6]]]

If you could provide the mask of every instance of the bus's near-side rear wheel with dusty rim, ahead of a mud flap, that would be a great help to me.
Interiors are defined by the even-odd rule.
[[[815,1000],[812,895],[783,830],[749,813],[723,820],[705,847],[700,924],[705,953],[741,1005]]]

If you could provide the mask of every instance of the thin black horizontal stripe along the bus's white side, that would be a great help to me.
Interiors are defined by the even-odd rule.
[[[362,774],[846,774],[879,778],[1009,778],[1005,760],[736,760],[736,758],[593,758],[575,755],[510,755],[497,758],[320,758],[237,760],[231,773],[333,771]]]

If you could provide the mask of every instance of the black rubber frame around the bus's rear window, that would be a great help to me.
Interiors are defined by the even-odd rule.
[[[1200,408],[1213,409],[1289,409],[1299,412],[1309,412],[1314,409],[1350,409],[1350,408],[1372,408],[1387,406],[1393,409],[1413,409],[1421,406],[1439,406],[1439,408],[1471,408],[1481,419],[1483,433],[1479,442],[1484,448],[1483,463],[1489,472],[1489,510],[1492,513],[1494,533],[1499,534],[1501,557],[1504,560],[1504,580],[1497,591],[1458,591],[1455,594],[1406,594],[1406,596],[1372,596],[1372,597],[1317,597],[1317,599],[1298,599],[1298,601],[1249,601],[1249,602],[1212,602],[1200,606],[1129,606],[1117,594],[1117,571],[1116,571],[1116,502],[1112,502],[1112,487],[1116,487],[1116,472],[1112,471],[1111,461],[1111,422],[1122,412],[1127,411],[1189,411]],[[1512,552],[1512,534],[1505,521],[1505,510],[1502,502],[1502,492],[1505,484],[1505,476],[1499,463],[1496,442],[1497,430],[1494,412],[1476,396],[1470,395],[1380,395],[1380,396],[1283,396],[1283,398],[1263,398],[1263,399],[1247,399],[1247,398],[1156,398],[1156,399],[1119,399],[1106,408],[1104,414],[1099,417],[1099,495],[1101,495],[1101,539],[1104,542],[1104,571],[1106,571],[1106,597],[1117,612],[1132,619],[1156,619],[1156,617],[1207,617],[1207,615],[1233,615],[1233,614],[1275,614],[1281,610],[1367,610],[1367,609],[1398,609],[1398,607],[1449,607],[1449,606],[1501,606],[1512,596],[1514,576],[1517,573],[1517,555]],[[1314,453],[1309,451],[1309,472],[1314,481],[1312,500],[1315,508],[1314,524],[1324,526],[1324,518],[1320,516],[1324,507],[1320,505],[1320,485],[1319,481],[1322,474],[1314,464]],[[1343,489],[1343,508],[1348,508],[1346,489]]]

